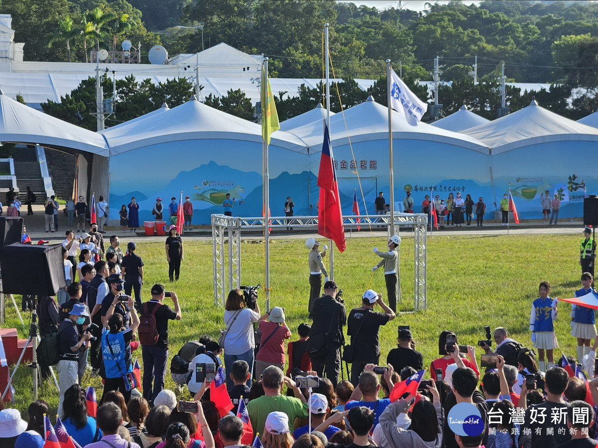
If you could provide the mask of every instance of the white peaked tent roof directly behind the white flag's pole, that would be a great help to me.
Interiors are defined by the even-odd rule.
[[[351,143],[388,140],[388,108],[376,103],[370,96],[365,102],[347,109],[344,113],[339,112],[332,116],[330,130],[332,146],[346,145],[349,143],[349,138]],[[472,137],[435,128],[422,122],[411,126],[405,120],[403,113],[394,110],[392,111],[392,132],[393,140],[411,139],[447,143],[489,154],[488,148]],[[319,151],[322,147],[324,130],[321,120],[295,128],[290,133],[303,139],[315,151]]]

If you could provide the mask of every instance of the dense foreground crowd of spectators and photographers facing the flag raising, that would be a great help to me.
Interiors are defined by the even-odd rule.
[[[347,313],[337,284],[327,280],[324,294],[312,302],[312,323],[301,323],[295,340],[283,308],[262,312],[257,295],[231,290],[219,339],[203,335],[185,344],[175,356],[183,361],[177,366],[181,375],[175,376],[172,359],[178,383],[173,391],[164,383],[169,321],[182,318],[176,293],[155,284],[151,300],[137,306],[123,293],[121,275],[110,274],[104,260],[93,266],[84,262],[80,269],[83,280],[68,286],[69,300],[57,307],[53,297],[42,297],[38,312],[44,333],[48,323],[58,324],[58,415],[82,447],[100,448],[100,442],[116,448],[259,446],[255,438],[266,448],[598,444],[594,310],[573,307],[571,334],[578,340],[578,357],[563,356],[555,363],[558,308],[545,281],[530,313],[533,348],[511,339],[504,327],[493,335],[487,329],[477,345],[459,345],[457,335],[444,330],[438,358],[424,360],[410,327],[398,326],[398,345],[386,362],[380,362],[379,335],[396,314],[374,290],[365,291],[361,305]],[[592,292],[592,283],[593,276],[584,272],[575,295]],[[172,308],[164,303],[167,297]],[[132,352],[140,349],[141,385],[132,375]],[[80,385],[88,350],[103,379],[95,417]],[[428,363],[429,379],[423,379]],[[419,383],[417,390],[396,392],[410,381]],[[222,407],[218,387],[225,389],[230,407]],[[453,432],[447,416],[459,403],[477,408],[484,422],[481,434]],[[30,404],[28,422],[17,410],[1,410],[2,447],[41,447],[47,413],[42,400]]]

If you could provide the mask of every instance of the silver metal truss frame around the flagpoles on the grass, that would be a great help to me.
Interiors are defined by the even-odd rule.
[[[395,213],[395,228],[390,229],[388,215],[343,216],[344,228],[358,226],[384,226],[390,235],[399,235],[399,229],[411,229],[414,240],[414,311],[426,309],[426,256],[428,215],[424,213]],[[318,216],[270,217],[271,229],[294,229],[317,231]],[[259,233],[264,231],[264,217],[231,217],[222,214],[212,215],[212,253],[214,305],[224,306],[228,291],[241,284],[241,232]],[[225,244],[228,250],[225,251]],[[400,276],[399,276],[400,277]],[[227,287],[228,286],[228,287]],[[399,288],[400,291],[400,288]],[[400,299],[399,293],[399,299]]]

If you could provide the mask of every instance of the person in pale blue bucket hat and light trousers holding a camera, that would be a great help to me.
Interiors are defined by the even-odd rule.
[[[83,303],[77,303],[69,312],[69,317],[60,323],[58,329],[58,349],[60,352],[60,361],[57,364],[60,384],[58,415],[62,415],[62,402],[65,398],[66,389],[79,382],[79,353],[82,348],[88,345],[87,341],[91,339],[91,334],[84,332],[80,335],[77,331],[77,325],[82,325],[86,317],[89,317],[86,306]]]

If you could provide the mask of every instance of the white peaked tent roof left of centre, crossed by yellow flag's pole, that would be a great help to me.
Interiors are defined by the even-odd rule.
[[[169,111],[149,116],[130,125],[100,131],[108,142],[110,155],[117,155],[143,146],[184,140],[243,140],[262,142],[261,126],[234,115],[218,111],[192,97]],[[276,131],[271,134],[271,146],[297,152],[307,152],[306,145],[296,136]]]

